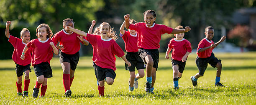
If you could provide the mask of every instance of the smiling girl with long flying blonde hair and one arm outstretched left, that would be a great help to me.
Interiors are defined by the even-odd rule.
[[[112,85],[114,83],[116,76],[115,55],[121,57],[128,66],[131,66],[131,63],[125,58],[123,50],[115,42],[117,36],[113,31],[113,28],[110,27],[110,24],[103,22],[100,24],[100,36],[87,34],[70,26],[67,26],[67,29],[86,37],[90,44],[92,44],[93,67],[95,69],[95,76],[99,82],[99,94],[100,96],[103,96],[105,89],[104,80],[106,80],[108,85]]]

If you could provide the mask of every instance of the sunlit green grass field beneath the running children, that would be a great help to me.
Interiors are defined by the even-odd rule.
[[[15,64],[12,59],[0,60],[0,104],[256,105],[256,52],[216,53],[215,56],[222,60],[223,71],[220,82],[225,85],[225,88],[214,86],[216,68],[212,68],[210,65],[208,65],[205,75],[198,79],[197,88],[194,88],[190,76],[195,75],[198,70],[195,64],[196,54],[190,54],[183,76],[179,79],[179,90],[172,89],[173,72],[171,60],[164,59],[164,53],[161,53],[159,68],[156,72],[155,94],[144,92],[145,77],[138,80],[138,89],[129,92],[129,73],[124,70],[124,61],[117,58],[115,82],[113,85],[105,85],[105,97],[103,98],[100,98],[98,94],[91,56],[80,57],[71,86],[71,98],[64,97],[62,69],[59,64],[59,58],[51,60],[53,78],[48,79],[48,87],[44,98],[33,98],[31,95],[36,83],[36,76],[32,68],[28,90],[29,97],[16,96],[15,81],[17,77]]]

